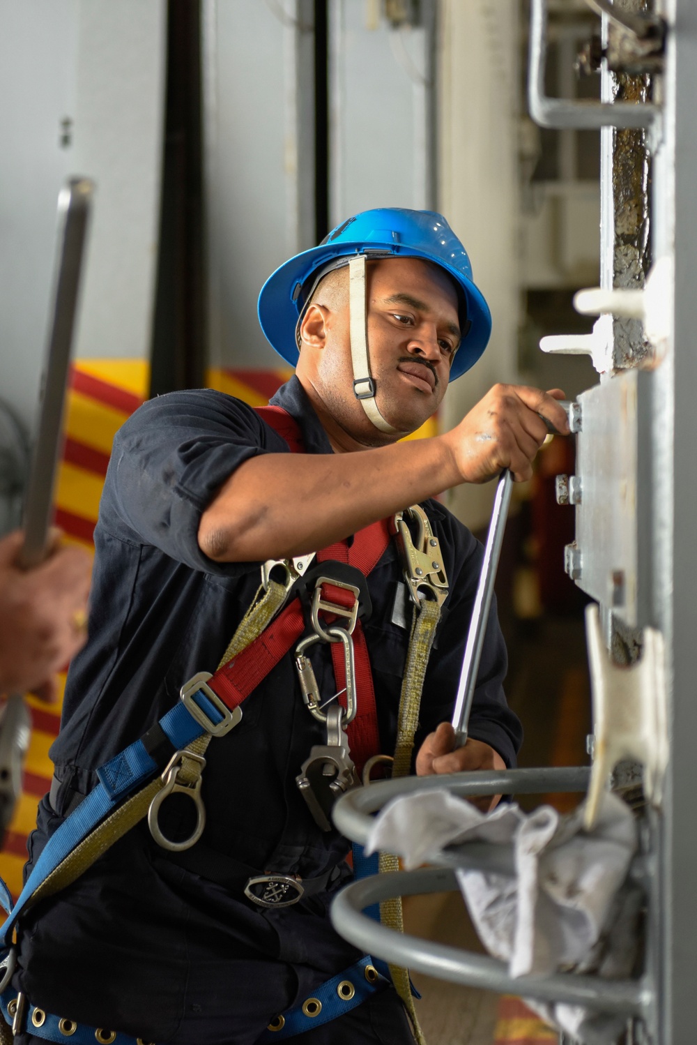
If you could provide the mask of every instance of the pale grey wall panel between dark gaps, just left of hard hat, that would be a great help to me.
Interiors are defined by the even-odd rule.
[[[203,0],[210,363],[282,365],[259,292],[314,246],[314,65],[309,0]]]

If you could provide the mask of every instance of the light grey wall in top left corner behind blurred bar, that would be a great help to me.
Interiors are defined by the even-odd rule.
[[[0,0],[0,395],[27,418],[68,175],[97,183],[76,354],[149,354],[165,15],[165,0]]]

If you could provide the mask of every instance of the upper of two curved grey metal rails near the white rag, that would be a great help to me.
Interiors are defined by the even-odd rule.
[[[402,776],[356,788],[342,795],[334,807],[333,817],[342,835],[364,845],[377,813],[391,798],[414,791],[447,788],[466,798],[485,794],[547,794],[585,792],[591,779],[588,766],[542,767],[535,769],[474,770],[435,776]]]

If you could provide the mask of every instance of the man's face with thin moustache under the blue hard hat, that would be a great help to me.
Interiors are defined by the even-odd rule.
[[[346,288],[347,282],[346,273]],[[460,342],[455,287],[427,261],[386,258],[367,265],[367,303],[368,353],[378,408],[400,432],[414,432],[436,411],[448,387]],[[325,312],[325,344],[314,353],[316,392],[341,427],[359,442],[392,441],[374,427],[354,396],[347,293]]]

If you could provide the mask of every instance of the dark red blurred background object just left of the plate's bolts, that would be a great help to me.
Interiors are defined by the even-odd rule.
[[[576,513],[572,505],[557,505],[555,492],[556,477],[573,474],[575,466],[573,440],[555,436],[537,457],[530,504],[539,599],[547,612],[558,614],[577,613],[587,601],[563,570],[563,550],[574,540]]]

